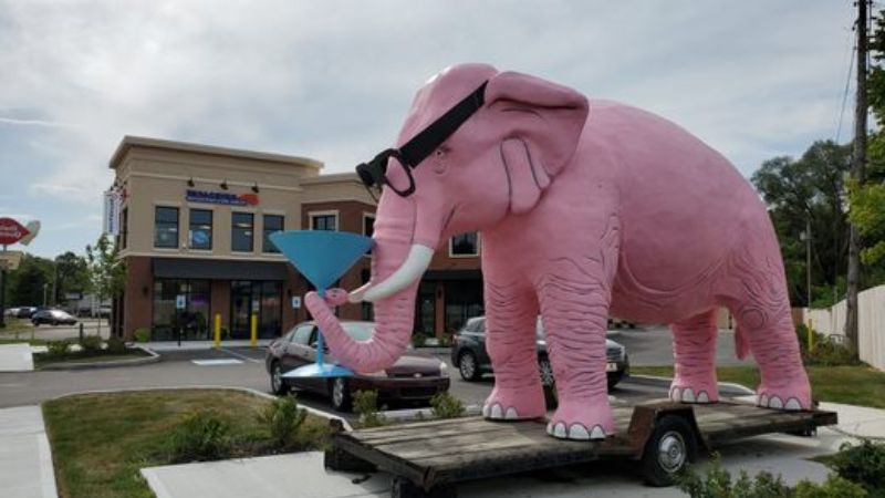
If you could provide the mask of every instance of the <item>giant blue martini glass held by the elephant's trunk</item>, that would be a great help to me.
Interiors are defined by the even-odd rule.
[[[327,230],[290,230],[270,235],[270,240],[321,297],[372,247],[372,239],[357,234]],[[301,366],[283,377],[346,377],[353,371],[324,363],[323,331],[316,342],[316,363]]]

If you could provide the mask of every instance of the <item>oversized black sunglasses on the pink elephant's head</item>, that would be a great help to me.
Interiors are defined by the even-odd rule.
[[[461,102],[455,104],[454,107],[446,111],[446,114],[439,116],[438,120],[427,125],[420,133],[415,135],[410,141],[406,142],[399,148],[388,148],[368,163],[362,163],[356,166],[356,174],[363,185],[368,189],[372,197],[377,200],[377,194],[384,185],[387,185],[393,191],[402,197],[408,197],[415,193],[415,178],[412,176],[412,169],[421,164],[434,151],[439,148],[442,143],[451,136],[470,116],[473,115],[485,102],[486,81],[470,95],[467,95]],[[408,186],[405,188],[397,187],[387,180],[387,165],[391,158],[396,159],[403,170],[408,177]]]

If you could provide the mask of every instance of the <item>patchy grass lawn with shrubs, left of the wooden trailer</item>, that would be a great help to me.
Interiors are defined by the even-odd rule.
[[[59,494],[72,498],[152,497],[138,470],[168,463],[169,433],[184,414],[211,412],[230,423],[235,440],[254,443],[264,437],[256,412],[269,404],[269,400],[248,393],[221,390],[90,394],[45,402],[43,416]],[[309,415],[299,445],[324,444],[327,425],[324,418]],[[272,453],[267,445],[240,447],[237,456]]]

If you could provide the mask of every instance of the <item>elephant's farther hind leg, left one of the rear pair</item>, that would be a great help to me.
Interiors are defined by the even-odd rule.
[[[670,400],[683,403],[719,401],[715,365],[716,314],[714,309],[671,325],[675,375]]]

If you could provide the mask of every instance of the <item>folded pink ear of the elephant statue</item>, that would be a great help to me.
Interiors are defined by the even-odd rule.
[[[525,212],[570,163],[590,105],[572,89],[516,72],[492,76],[486,102],[508,129],[501,160],[510,180],[510,210]]]

